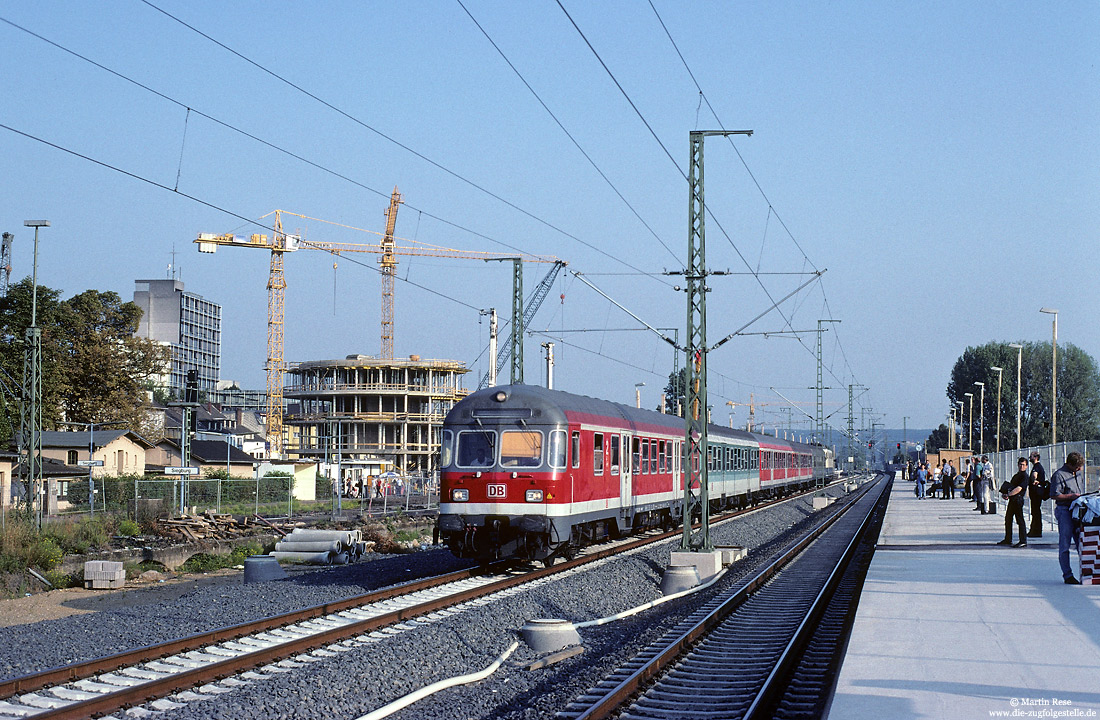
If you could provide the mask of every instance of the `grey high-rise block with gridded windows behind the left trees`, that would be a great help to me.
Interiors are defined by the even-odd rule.
[[[198,372],[199,390],[211,391],[221,374],[221,306],[184,290],[183,280],[136,280],[134,303],[142,309],[138,336],[172,347],[167,388],[184,396],[187,370]]]

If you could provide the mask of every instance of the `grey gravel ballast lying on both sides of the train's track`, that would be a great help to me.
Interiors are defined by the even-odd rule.
[[[840,495],[839,487],[828,490]],[[836,505],[818,513],[832,513]],[[814,511],[809,496],[712,528],[715,544],[744,545],[748,556],[712,589],[645,611],[628,620],[582,631],[584,653],[544,669],[524,667],[537,658],[520,643],[490,678],[444,690],[392,716],[398,720],[550,718],[634,656],[701,602],[761,566],[789,538],[801,534]],[[188,702],[163,717],[358,718],[441,679],[492,663],[528,621],[606,617],[660,597],[661,575],[679,542],[666,542],[564,574],[534,587],[469,603],[453,616],[372,642],[346,643],[345,652],[254,680],[231,693]],[[377,557],[370,563],[257,585],[197,588],[169,605],[139,605],[57,621],[0,629],[0,675],[11,677],[103,655],[264,614],[319,605],[396,581],[463,565],[447,551]]]

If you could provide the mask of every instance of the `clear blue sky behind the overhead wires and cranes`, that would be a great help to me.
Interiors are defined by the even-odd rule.
[[[708,265],[760,275],[712,278],[710,336],[806,279],[792,274],[827,269],[782,304],[785,317],[748,329],[842,320],[824,340],[826,412],[846,406],[842,388],[862,384],[857,407],[884,413],[888,427],[902,417],[934,425],[965,347],[1048,339],[1044,306],[1060,310],[1059,342],[1100,356],[1086,269],[1100,207],[1096,3],[653,0],[716,119],[648,2],[562,0],[644,123],[557,2],[463,2],[614,189],[457,1],[155,0],[354,120],[140,0],[2,3],[8,23],[175,101],[0,23],[0,124],[168,188],[0,129],[0,230],[16,235],[13,277],[31,269],[26,219],[52,221],[38,276],[66,297],[97,288],[130,299],[135,279],[166,276],[174,248],[187,289],[223,306],[223,377],[262,388],[268,256],[199,255],[191,242],[261,229],[186,196],[249,219],[279,208],[377,233],[396,185],[407,201],[399,244],[556,255],[682,334],[683,293],[661,273],[686,256],[688,133],[721,122],[754,135],[706,142],[717,219],[707,220]],[[308,240],[377,240],[317,221],[287,225]],[[375,258],[337,265],[315,251],[286,258],[289,362],[378,353]],[[544,272],[528,266],[526,287]],[[398,277],[440,295],[397,284],[397,354],[471,363],[476,386],[488,334],[477,309],[507,314],[508,268],[403,257]],[[638,325],[573,276],[532,326],[558,334],[558,387],[630,402],[645,383],[644,402],[658,402],[669,346],[617,332]],[[546,340],[527,341],[529,383],[543,376]],[[715,351],[715,419],[754,394],[776,403],[760,414],[785,424],[770,388],[812,402],[813,348],[812,334],[751,335]],[[745,416],[736,408],[735,422]]]

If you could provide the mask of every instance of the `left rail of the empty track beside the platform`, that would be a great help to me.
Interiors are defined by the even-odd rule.
[[[744,605],[754,592],[782,572],[803,550],[817,540],[818,536],[848,512],[848,510],[855,507],[857,500],[878,485],[879,483],[871,483],[866,488],[862,488],[843,510],[803,535],[802,539],[788,547],[787,551],[757,573],[741,588],[704,616],[695,625],[669,642],[661,652],[634,671],[618,685],[607,690],[606,694],[588,706],[583,712],[573,717],[573,720],[603,720],[616,715],[627,700],[637,695],[651,680],[663,674],[680,656],[690,652],[714,628],[718,627],[729,614]]]

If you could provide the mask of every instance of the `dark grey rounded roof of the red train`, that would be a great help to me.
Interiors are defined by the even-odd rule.
[[[497,400],[499,392],[504,399]],[[620,402],[612,402],[586,395],[575,395],[564,390],[550,390],[538,385],[501,385],[472,392],[460,400],[447,414],[449,423],[471,422],[474,418],[492,418],[507,420],[520,418],[521,412],[530,410],[524,420],[540,423],[565,423],[569,416],[600,418],[620,418],[637,428],[660,428],[666,432],[682,432],[684,421],[679,416],[634,408]],[[746,430],[724,428],[710,423],[707,432],[722,437],[736,437],[772,447],[790,447],[799,452],[813,452],[820,445],[800,443],[792,440],[780,440],[771,435],[761,435]]]

